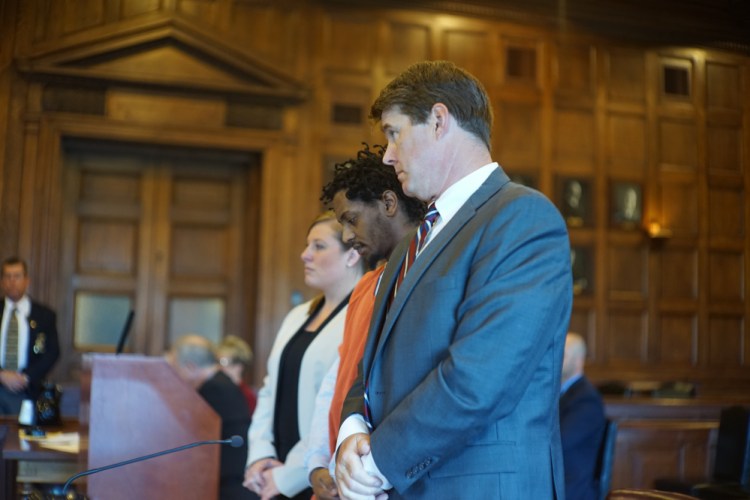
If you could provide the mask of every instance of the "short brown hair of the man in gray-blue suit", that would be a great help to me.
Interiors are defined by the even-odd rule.
[[[406,68],[380,92],[370,118],[379,122],[385,111],[397,108],[413,123],[425,123],[437,103],[491,149],[492,105],[487,91],[471,73],[449,61],[424,61]]]

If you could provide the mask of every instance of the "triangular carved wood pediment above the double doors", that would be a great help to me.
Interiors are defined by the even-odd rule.
[[[37,81],[181,91],[265,104],[297,104],[309,94],[302,82],[179,20],[18,59],[16,66]]]

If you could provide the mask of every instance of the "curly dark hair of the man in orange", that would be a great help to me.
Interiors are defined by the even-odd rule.
[[[344,191],[350,200],[373,203],[390,190],[398,196],[399,206],[409,220],[419,223],[426,212],[425,204],[404,194],[396,171],[383,163],[385,148],[376,144],[370,149],[367,143],[362,144],[364,149],[357,152],[356,158],[334,165],[333,180],[323,187],[320,200],[328,205],[336,193]]]

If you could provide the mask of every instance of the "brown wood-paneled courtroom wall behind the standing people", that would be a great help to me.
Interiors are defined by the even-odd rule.
[[[298,249],[327,169],[382,142],[366,115],[391,78],[450,59],[490,93],[509,173],[561,208],[569,181],[585,188],[585,213],[569,219],[581,266],[571,328],[588,339],[591,377],[747,387],[750,61],[528,19],[295,0],[6,1],[0,250],[28,257],[36,295],[69,307],[56,229],[65,137],[261,153],[246,324],[259,383],[292,293],[309,295]],[[640,217],[623,222],[627,186]]]

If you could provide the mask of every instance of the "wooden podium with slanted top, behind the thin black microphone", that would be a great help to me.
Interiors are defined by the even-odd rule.
[[[81,434],[94,469],[196,441],[220,439],[221,419],[158,357],[93,354],[84,361]],[[216,499],[218,444],[80,478],[92,500]],[[83,457],[82,457],[83,458]]]

